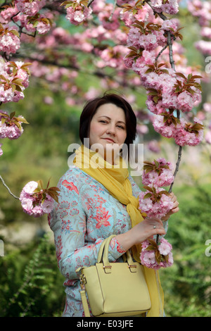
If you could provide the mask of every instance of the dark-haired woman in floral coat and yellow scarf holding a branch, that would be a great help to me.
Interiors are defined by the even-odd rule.
[[[66,279],[65,317],[84,316],[75,270],[96,263],[103,239],[116,235],[110,242],[110,261],[122,261],[122,254],[131,248],[137,259],[141,242],[165,235],[167,228],[167,222],[158,218],[143,220],[136,199],[140,189],[119,157],[122,146],[129,147],[136,137],[136,116],[128,102],[117,94],[89,101],[82,111],[79,135],[82,146],[60,178],[59,203],[49,216],[58,266]],[[89,138],[87,147],[84,138]],[[164,220],[179,209],[174,194],[172,200],[174,208]],[[148,316],[163,314],[160,291],[160,299],[151,297],[153,308]]]

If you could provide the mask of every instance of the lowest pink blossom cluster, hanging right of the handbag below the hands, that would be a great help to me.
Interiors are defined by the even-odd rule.
[[[161,238],[158,245],[146,240],[141,246],[140,259],[143,266],[158,270],[174,263],[172,245],[166,239]]]

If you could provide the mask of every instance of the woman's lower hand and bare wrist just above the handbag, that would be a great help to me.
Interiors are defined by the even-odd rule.
[[[117,235],[116,239],[122,248],[127,251],[136,244],[141,244],[144,240],[154,235],[165,235],[162,220],[159,218],[145,218],[131,230]]]

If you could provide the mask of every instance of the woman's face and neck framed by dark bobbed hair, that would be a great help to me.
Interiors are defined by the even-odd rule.
[[[127,137],[126,120],[122,108],[115,104],[99,106],[89,127],[89,144],[98,144],[98,153],[113,163]],[[93,148],[96,151],[96,145]]]

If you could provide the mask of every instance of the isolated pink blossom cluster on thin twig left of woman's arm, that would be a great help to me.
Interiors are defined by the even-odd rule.
[[[37,192],[38,182],[28,182],[20,193],[20,202],[23,211],[35,218],[51,213],[53,198],[49,194],[43,194],[43,190]]]

